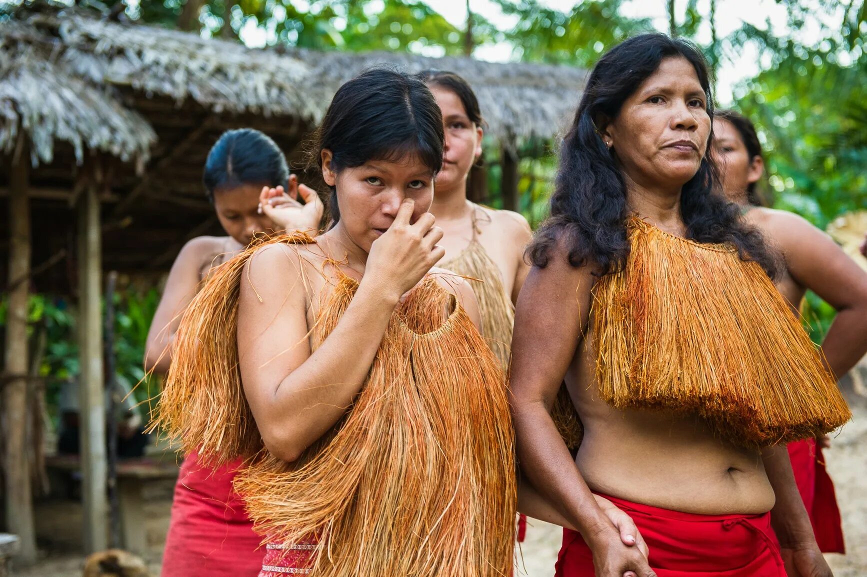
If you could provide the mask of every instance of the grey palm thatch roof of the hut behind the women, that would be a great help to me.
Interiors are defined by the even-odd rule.
[[[8,162],[19,135],[28,137],[34,228],[67,230],[74,219],[62,201],[73,196],[88,155],[98,152],[111,174],[102,195],[105,266],[166,269],[192,233],[219,233],[201,169],[220,133],[262,130],[297,166],[301,142],[336,89],[381,63],[464,76],[479,96],[487,133],[510,148],[554,137],[574,111],[586,75],[470,58],[248,49],[35,3],[0,21],[0,156]],[[6,174],[0,172],[0,212]],[[55,245],[66,243],[56,236]],[[58,250],[36,246],[34,264]]]

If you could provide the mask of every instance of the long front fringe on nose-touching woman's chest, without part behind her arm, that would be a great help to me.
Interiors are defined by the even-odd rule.
[[[356,286],[342,278],[320,311],[318,342]],[[267,541],[314,535],[322,543],[315,577],[506,577],[514,466],[499,363],[453,296],[428,278],[394,314],[332,436],[291,466],[264,457],[235,486]]]

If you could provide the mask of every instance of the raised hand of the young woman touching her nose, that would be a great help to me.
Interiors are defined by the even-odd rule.
[[[375,284],[377,290],[395,302],[446,254],[446,250],[437,245],[442,229],[433,226],[435,219],[430,212],[410,224],[414,206],[411,198],[401,203],[394,222],[370,247],[362,278],[362,284]]]

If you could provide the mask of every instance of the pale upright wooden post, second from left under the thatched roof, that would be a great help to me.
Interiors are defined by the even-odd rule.
[[[101,226],[99,183],[91,172],[78,199],[79,423],[85,553],[108,548],[106,411],[102,385]]]

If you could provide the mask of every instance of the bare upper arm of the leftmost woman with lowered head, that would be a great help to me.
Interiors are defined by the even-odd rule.
[[[172,363],[174,334],[178,330],[180,317],[187,305],[196,295],[199,286],[199,271],[205,260],[213,254],[211,237],[193,238],[180,250],[174,260],[172,270],[166,280],[160,304],[153,314],[151,327],[147,331],[145,345],[145,370],[167,373]]]

